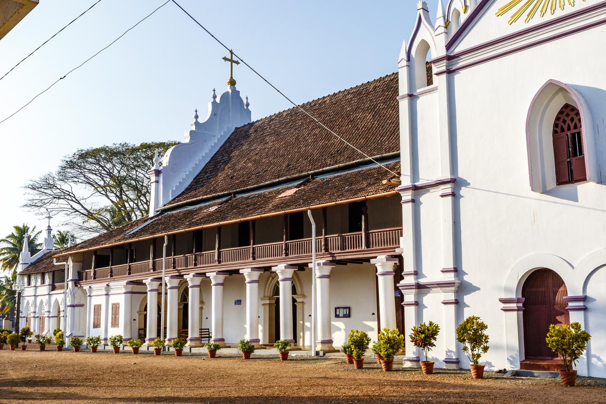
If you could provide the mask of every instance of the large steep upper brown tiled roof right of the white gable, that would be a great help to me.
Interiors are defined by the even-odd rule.
[[[301,107],[368,156],[399,151],[398,74]],[[167,206],[364,158],[298,108],[236,128]]]

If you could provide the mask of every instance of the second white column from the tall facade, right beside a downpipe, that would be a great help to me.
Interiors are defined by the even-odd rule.
[[[309,264],[310,267],[313,263]],[[317,315],[316,324],[318,325],[318,337],[316,343],[319,344],[320,351],[332,351],[333,335],[331,327],[331,307],[330,307],[330,271],[336,266],[336,263],[330,261],[316,262],[316,304]]]

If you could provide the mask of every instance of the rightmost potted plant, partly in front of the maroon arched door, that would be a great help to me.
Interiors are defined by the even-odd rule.
[[[576,370],[573,366],[579,360],[581,355],[587,348],[587,342],[591,339],[590,334],[581,329],[581,323],[574,322],[571,325],[555,325],[549,326],[547,333],[547,346],[557,354],[562,363],[564,363],[564,371],[560,371],[560,379],[564,386],[574,386],[576,383]]]

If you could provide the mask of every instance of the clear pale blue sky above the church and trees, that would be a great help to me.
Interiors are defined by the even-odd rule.
[[[0,76],[93,2],[40,0],[0,40]],[[163,2],[102,0],[0,81],[0,120]],[[416,0],[178,2],[298,103],[396,71],[416,17]],[[428,1],[432,18],[436,3]],[[182,141],[194,109],[206,116],[213,87],[227,89],[225,55],[169,3],[0,124],[0,236],[24,222],[46,227],[21,208],[21,187],[56,170],[66,154],[123,141]],[[253,119],[290,107],[244,65],[234,76]],[[53,228],[60,224],[55,219]]]

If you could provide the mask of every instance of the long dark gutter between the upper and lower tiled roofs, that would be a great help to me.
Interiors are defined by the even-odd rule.
[[[359,159],[356,161],[350,161],[350,162],[342,163],[342,164],[338,164],[338,165],[331,165],[330,167],[320,168],[319,170],[307,171],[307,173],[293,174],[290,176],[273,179],[273,180],[270,180],[267,182],[263,182],[262,184],[251,185],[250,187],[238,188],[237,190],[224,191],[221,193],[195,197],[192,199],[184,200],[182,202],[177,202],[176,204],[172,204],[172,205],[164,205],[164,207],[160,207],[160,208],[156,209],[156,212],[162,213],[164,211],[174,210],[176,208],[180,208],[185,205],[192,205],[192,204],[203,202],[203,201],[209,200],[209,199],[217,199],[220,197],[230,196],[231,194],[238,194],[238,193],[242,193],[242,192],[246,192],[246,191],[253,191],[253,190],[257,190],[259,188],[265,188],[265,187],[270,187],[271,185],[281,184],[282,182],[290,182],[290,181],[296,180],[296,179],[304,179],[305,177],[315,176],[318,174],[325,174],[325,173],[329,173],[331,171],[337,171],[337,170],[341,170],[344,168],[356,167],[357,165],[362,165],[365,163],[373,162],[373,160],[385,160],[385,159],[390,159],[392,157],[398,157],[399,155],[400,155],[399,151],[394,151],[392,153],[379,154],[379,156],[373,156],[373,157],[371,157],[371,159],[368,159],[368,158]],[[304,210],[307,210],[307,209],[304,209]]]

